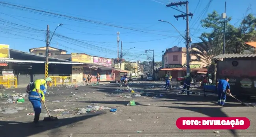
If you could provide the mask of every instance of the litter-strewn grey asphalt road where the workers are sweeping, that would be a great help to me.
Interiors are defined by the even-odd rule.
[[[126,87],[117,84],[81,87],[48,88],[46,105],[49,110],[67,109],[64,112],[51,112],[59,120],[42,122],[44,127],[35,128],[31,123],[33,112],[31,103],[25,98],[24,103],[5,104],[7,98],[0,98],[0,107],[24,107],[14,114],[2,114],[0,111],[0,137],[205,137],[230,136],[252,137],[255,135],[254,107],[241,106],[236,100],[228,97],[226,106],[216,105],[217,96],[177,94],[179,90],[167,91],[160,82],[134,82],[129,85],[141,97],[130,96]],[[153,87],[154,86],[154,87]],[[13,90],[15,90],[13,92]],[[1,93],[24,93],[24,88],[0,90]],[[160,94],[163,96],[160,97]],[[152,97],[154,96],[154,97]],[[134,100],[136,106],[127,106]],[[76,108],[86,106],[105,106],[117,108],[117,112],[101,110],[77,114]],[[43,108],[41,119],[47,117]],[[247,117],[251,121],[247,130],[179,130],[176,119],[179,117]],[[137,131],[141,131],[137,133]]]

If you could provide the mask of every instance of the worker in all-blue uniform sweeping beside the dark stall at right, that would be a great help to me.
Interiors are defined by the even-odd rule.
[[[230,94],[230,86],[228,84],[229,79],[225,78],[225,79],[221,79],[218,82],[218,103],[221,106],[224,106],[225,102],[226,102],[226,93]]]

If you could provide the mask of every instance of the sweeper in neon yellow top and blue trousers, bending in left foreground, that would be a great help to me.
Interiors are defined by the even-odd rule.
[[[35,117],[33,121],[33,123],[35,123],[35,126],[42,126],[41,124],[38,123],[38,121],[39,121],[40,113],[42,111],[41,102],[45,102],[45,94],[46,94],[45,85],[40,85],[39,87],[40,87],[39,90],[34,88],[32,91],[30,91],[28,96],[28,99],[32,103],[33,109],[35,112]],[[42,97],[42,99],[40,98],[39,94]]]

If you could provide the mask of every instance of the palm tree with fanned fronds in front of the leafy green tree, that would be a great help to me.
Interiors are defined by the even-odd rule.
[[[217,37],[217,38],[216,38]],[[221,54],[222,52],[222,35],[212,36],[204,34],[199,37],[202,42],[191,45],[190,55],[196,58],[190,59],[190,62],[202,62],[208,67],[208,71],[213,72],[213,82],[216,79],[217,64],[212,60],[213,57]]]

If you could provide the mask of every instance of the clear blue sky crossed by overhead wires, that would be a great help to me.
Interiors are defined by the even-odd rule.
[[[224,0],[212,0],[209,8],[204,10],[209,1],[189,0],[189,12],[194,14],[189,23],[190,33],[193,34],[190,36],[194,43],[198,41],[197,37],[202,32],[210,31],[200,27],[200,20],[213,10],[219,14],[224,12]],[[182,13],[165,7],[169,2],[177,2],[177,0],[81,0],[79,2],[78,0],[1,0],[1,2],[119,26],[112,27],[83,20],[47,16],[0,4],[0,44],[8,44],[11,49],[28,52],[30,48],[45,46],[47,25],[53,32],[59,23],[64,25],[56,30],[56,34],[66,38],[54,36],[50,46],[68,50],[68,53],[116,58],[117,32],[120,32],[120,46],[122,40],[123,52],[135,47],[124,56],[128,61],[144,61],[152,57],[152,52],[143,53],[146,49],[154,50],[155,60],[161,61],[162,50],[175,45],[185,47],[184,40],[171,25],[158,22],[160,19],[171,22],[182,34],[185,34],[186,21],[182,18],[177,21],[173,17]],[[226,2],[226,13],[232,17],[232,24],[237,24],[243,18],[247,7],[250,5],[256,7],[255,0],[226,0]],[[179,9],[186,12],[184,6]],[[249,13],[256,11],[251,9]]]

